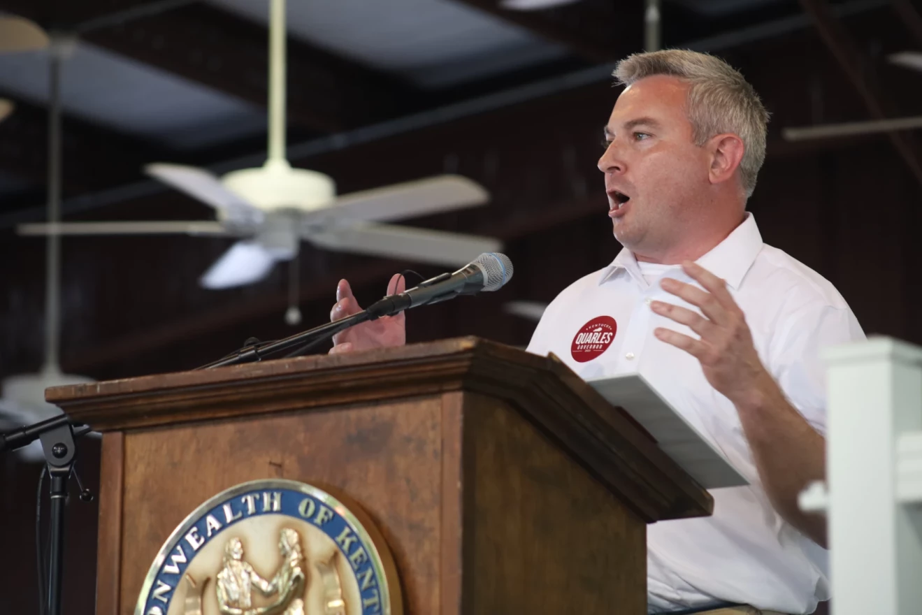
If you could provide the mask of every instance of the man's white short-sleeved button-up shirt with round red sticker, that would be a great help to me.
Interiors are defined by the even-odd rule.
[[[864,339],[845,300],[809,267],[762,243],[751,214],[698,264],[727,280],[762,363],[790,403],[824,433],[818,352]],[[711,491],[711,516],[647,527],[650,612],[733,602],[810,613],[829,597],[827,551],[772,508],[733,404],[707,383],[694,357],[654,337],[657,326],[697,337],[651,311],[654,300],[697,310],[660,288],[665,277],[695,283],[680,266],[639,264],[622,250],[611,265],[577,280],[550,303],[528,351],[553,352],[586,380],[644,374],[751,483]]]

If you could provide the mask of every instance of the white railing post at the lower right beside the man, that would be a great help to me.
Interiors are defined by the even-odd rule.
[[[922,613],[922,349],[886,337],[823,353],[834,615]]]

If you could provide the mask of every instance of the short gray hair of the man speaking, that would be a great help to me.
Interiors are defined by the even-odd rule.
[[[655,75],[679,77],[691,84],[685,111],[696,145],[703,146],[722,133],[742,139],[739,172],[746,195],[751,196],[765,161],[769,117],[755,89],[720,58],[683,49],[634,53],[621,60],[614,72],[619,84],[625,86]]]

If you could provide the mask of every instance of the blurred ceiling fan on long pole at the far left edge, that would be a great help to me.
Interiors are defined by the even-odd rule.
[[[0,18],[0,30],[7,18]],[[2,36],[2,35],[0,35]],[[2,39],[0,39],[2,40]],[[49,112],[49,165],[48,173],[48,220],[55,223],[61,211],[61,95],[60,71],[63,57],[68,49],[65,41],[48,41],[50,47],[50,96]],[[30,423],[53,417],[61,409],[45,401],[45,389],[62,384],[81,384],[92,382],[86,376],[63,373],[58,361],[60,337],[60,279],[61,279],[61,238],[50,235],[46,240],[45,258],[45,349],[44,362],[39,373],[22,373],[10,375],[0,382],[3,397],[0,397],[0,429],[13,429]],[[38,441],[21,448],[18,454],[29,461],[43,459],[41,443]]]

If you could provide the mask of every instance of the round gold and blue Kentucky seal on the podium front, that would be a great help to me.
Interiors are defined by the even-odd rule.
[[[219,493],[160,549],[135,615],[400,615],[384,539],[340,500],[294,480]]]

